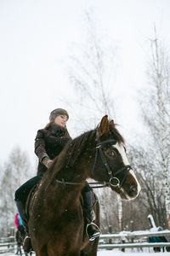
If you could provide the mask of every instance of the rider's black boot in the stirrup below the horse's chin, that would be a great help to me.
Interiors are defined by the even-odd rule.
[[[94,204],[93,204],[93,198],[92,198],[92,191],[89,190],[82,193],[82,197],[84,202],[84,215],[85,215],[85,218],[88,219],[88,222],[90,222],[86,226],[86,233],[87,233],[88,239],[90,241],[93,241],[95,238],[101,235],[101,232],[99,230],[99,227],[93,223],[95,214],[93,209]]]

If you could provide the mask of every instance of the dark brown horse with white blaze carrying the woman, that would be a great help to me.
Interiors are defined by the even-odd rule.
[[[124,139],[105,115],[96,129],[65,145],[48,168],[29,207],[28,228],[37,256],[95,256],[99,239],[89,241],[83,218],[82,188],[88,178],[109,186],[123,200],[139,195]],[[99,205],[95,206],[99,225]]]

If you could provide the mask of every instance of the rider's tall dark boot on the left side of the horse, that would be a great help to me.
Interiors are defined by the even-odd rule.
[[[20,234],[23,239],[23,248],[26,253],[31,252],[31,237],[28,236],[28,225],[27,225],[27,218],[26,218],[26,209],[25,205],[23,204],[22,201],[15,201],[16,207],[20,213],[20,218],[22,219],[22,224],[24,226],[24,234]]]

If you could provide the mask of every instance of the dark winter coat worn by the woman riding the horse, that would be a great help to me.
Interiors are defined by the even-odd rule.
[[[47,167],[42,164],[42,160],[48,157],[54,160],[65,144],[71,140],[68,131],[59,125],[49,124],[48,128],[38,130],[35,139],[35,153],[39,159],[37,167],[37,175],[43,174],[47,171]]]

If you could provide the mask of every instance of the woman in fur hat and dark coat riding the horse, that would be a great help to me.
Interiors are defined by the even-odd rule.
[[[65,109],[54,109],[49,116],[49,123],[44,129],[37,131],[37,137],[35,139],[35,153],[38,157],[37,176],[31,178],[24,183],[15,192],[15,202],[22,218],[22,223],[25,227],[28,235],[27,217],[26,217],[26,199],[31,188],[40,182],[43,173],[47,172],[48,167],[53,162],[54,158],[62,151],[65,144],[71,141],[71,137],[66,129],[66,122],[69,119],[69,114]],[[82,189],[82,197],[84,201],[84,215],[92,223],[93,214],[93,200],[92,191],[89,186],[85,186]],[[89,222],[88,221],[88,222]],[[94,240],[100,235],[95,225],[88,225],[88,238]],[[29,251],[28,247],[31,247],[31,239],[26,236],[23,247],[25,251]]]

